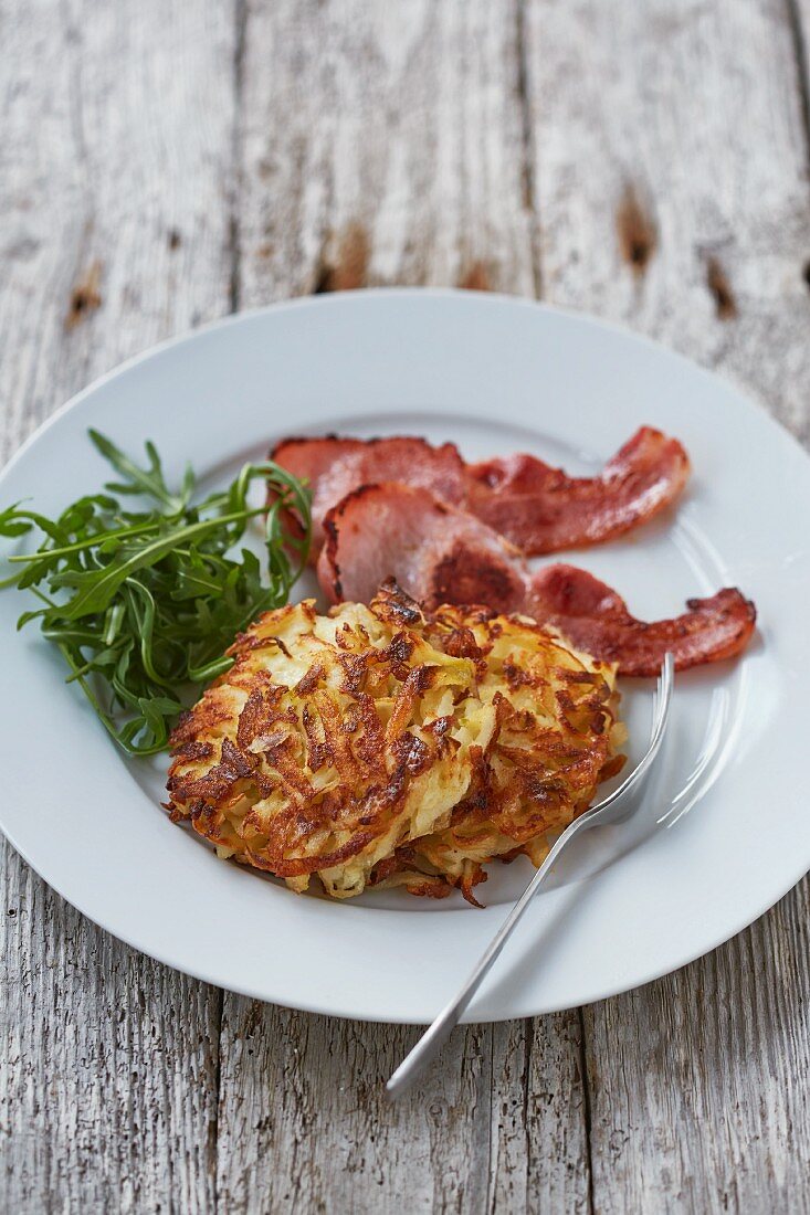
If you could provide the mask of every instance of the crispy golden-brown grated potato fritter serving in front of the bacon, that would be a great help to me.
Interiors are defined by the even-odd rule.
[[[615,668],[480,608],[260,616],[171,740],[167,806],[221,857],[327,894],[474,903],[494,857],[539,864],[621,765]]]

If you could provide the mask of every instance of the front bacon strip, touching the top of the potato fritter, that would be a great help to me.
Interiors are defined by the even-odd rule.
[[[598,578],[555,564],[533,573],[497,532],[457,507],[406,485],[369,485],[326,516],[319,560],[325,593],[370,601],[393,577],[427,608],[482,604],[553,625],[574,645],[628,676],[656,676],[668,650],[680,669],[738,654],[756,612],[736,589],[691,599],[674,620],[647,623]]]

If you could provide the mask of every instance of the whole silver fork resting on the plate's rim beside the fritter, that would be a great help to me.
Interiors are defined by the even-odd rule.
[[[669,707],[673,699],[675,661],[671,654],[666,654],[664,656],[660,674],[658,676],[656,697],[653,701],[652,733],[649,738],[649,746],[647,747],[647,753],[643,759],[636,768],[634,768],[630,775],[621,781],[618,789],[614,789],[613,792],[608,793],[608,796],[601,802],[592,806],[589,810],[585,810],[585,813],[580,814],[578,819],[574,819],[574,821],[566,827],[563,833],[555,841],[551,846],[549,855],[507,915],[459,995],[454,996],[450,1004],[441,1010],[433,1024],[426,1029],[416,1046],[414,1046],[410,1053],[405,1056],[392,1075],[390,1080],[386,1085],[386,1091],[389,1097],[399,1097],[406,1089],[410,1089],[416,1078],[421,1075],[428,1063],[435,1057],[444,1042],[448,1040],[452,1029],[457,1025],[465,1008],[478,990],[482,979],[489,973],[493,963],[511,937],[514,926],[534,895],[538,893],[540,883],[559,857],[563,848],[568,847],[574,836],[580,835],[583,831],[587,831],[589,827],[603,826],[606,823],[617,823],[626,816],[628,810],[621,806],[621,802],[624,801],[625,795],[635,789],[647,775],[664,740],[664,733],[669,722]]]

